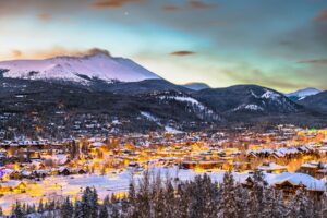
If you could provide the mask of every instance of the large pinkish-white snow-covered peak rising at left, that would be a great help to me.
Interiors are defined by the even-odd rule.
[[[106,53],[85,57],[57,57],[45,60],[15,60],[0,62],[3,77],[27,80],[57,80],[87,84],[89,80],[108,83],[138,82],[160,78],[129,59]]]

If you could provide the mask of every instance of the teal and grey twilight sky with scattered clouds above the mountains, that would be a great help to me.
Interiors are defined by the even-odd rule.
[[[99,48],[177,84],[327,89],[327,0],[0,0],[0,60]]]

